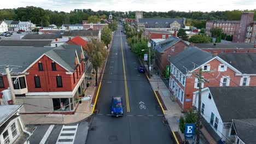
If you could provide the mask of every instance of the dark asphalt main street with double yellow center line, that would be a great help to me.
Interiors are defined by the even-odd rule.
[[[120,33],[121,28],[119,26],[114,34],[98,95],[96,109],[100,115],[92,116],[86,143],[174,143],[170,127],[162,122],[164,116],[146,75],[138,73],[140,63],[127,46],[126,35]],[[121,43],[130,112],[126,103]],[[123,98],[123,117],[107,116],[113,97]],[[146,106],[142,109],[139,108],[141,101]]]

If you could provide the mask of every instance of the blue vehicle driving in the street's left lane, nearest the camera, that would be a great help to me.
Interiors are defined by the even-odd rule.
[[[111,114],[115,117],[123,116],[123,104],[120,97],[112,99]]]

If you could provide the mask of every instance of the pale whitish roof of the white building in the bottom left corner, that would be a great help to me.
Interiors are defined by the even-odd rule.
[[[9,119],[22,105],[0,105],[0,127]]]

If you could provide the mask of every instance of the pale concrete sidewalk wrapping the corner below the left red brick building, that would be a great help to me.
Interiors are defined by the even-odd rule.
[[[96,87],[95,75],[92,76],[90,86],[86,88],[84,97],[91,95],[94,97]],[[78,104],[77,110],[74,115],[62,115],[62,114],[25,114],[21,115],[22,121],[25,124],[67,124],[82,121],[83,119],[91,116],[92,107],[90,106],[91,100],[82,101]]]

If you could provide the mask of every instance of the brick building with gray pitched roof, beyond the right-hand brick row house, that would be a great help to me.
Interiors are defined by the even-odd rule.
[[[155,50],[155,66],[161,72],[166,70],[166,65],[169,65],[168,57],[174,57],[182,52],[188,44],[179,38],[170,37],[159,42],[154,46]]]

